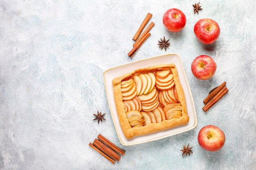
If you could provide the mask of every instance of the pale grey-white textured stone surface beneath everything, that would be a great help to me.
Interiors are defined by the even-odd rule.
[[[193,14],[190,0],[92,1],[0,0],[0,169],[254,169],[256,166],[256,2],[202,0]],[[172,7],[187,18],[178,33],[166,31],[163,13]],[[150,38],[130,59],[132,37],[146,13],[155,22]],[[196,40],[193,25],[212,18],[221,28],[211,45]],[[157,40],[170,38],[165,52]],[[158,141],[121,146],[103,84],[103,71],[113,66],[166,53],[180,54],[198,116],[198,126]],[[201,81],[191,73],[198,55],[210,55],[216,74]],[[229,93],[207,113],[207,93],[223,81]],[[107,121],[92,121],[97,110]],[[206,125],[220,127],[225,146],[207,152],[197,141]],[[112,165],[89,148],[101,133],[126,150]],[[183,145],[193,146],[182,157]]]

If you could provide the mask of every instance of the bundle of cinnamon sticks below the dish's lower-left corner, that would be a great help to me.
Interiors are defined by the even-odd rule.
[[[95,139],[93,143],[89,144],[90,147],[97,150],[101,155],[107,158],[111,163],[115,163],[115,161],[119,161],[121,158],[120,155],[124,155],[125,151],[121,150],[111,141],[103,137],[101,134],[98,135],[98,139]],[[120,155],[118,155],[119,153]]]

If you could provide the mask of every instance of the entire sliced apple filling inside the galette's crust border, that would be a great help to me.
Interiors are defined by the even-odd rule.
[[[157,89],[159,89],[159,94]],[[134,75],[121,82],[126,116],[132,128],[182,117],[171,70]],[[162,109],[162,106],[164,109]]]

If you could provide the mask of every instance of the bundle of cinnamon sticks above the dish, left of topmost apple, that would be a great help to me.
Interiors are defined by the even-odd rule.
[[[150,24],[147,26],[147,28],[143,31],[143,29],[145,28],[146,24],[148,23],[148,21],[150,20],[150,18],[152,17],[151,13],[148,13],[145,17],[145,19],[143,20],[143,22],[141,23],[141,25],[139,26],[138,31],[135,33],[135,35],[133,36],[132,40],[135,40],[135,43],[133,44],[133,49],[128,53],[129,57],[133,57],[133,55],[138,51],[139,47],[146,41],[146,39],[151,35],[149,33],[149,31],[153,28],[153,26],[155,25],[154,22],[150,22]],[[141,32],[143,31],[143,33],[141,34]],[[139,35],[141,34],[141,36],[139,37]]]

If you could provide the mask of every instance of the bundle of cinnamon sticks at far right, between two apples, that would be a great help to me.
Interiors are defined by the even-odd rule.
[[[220,86],[213,88],[209,95],[204,99],[205,106],[202,108],[205,112],[209,110],[214,104],[216,104],[227,92],[229,89],[225,86],[226,82],[220,84]]]

